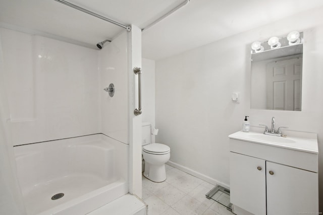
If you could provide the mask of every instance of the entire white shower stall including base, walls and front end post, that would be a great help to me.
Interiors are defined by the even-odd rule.
[[[141,196],[141,29],[98,46],[0,27],[0,213],[86,214]]]

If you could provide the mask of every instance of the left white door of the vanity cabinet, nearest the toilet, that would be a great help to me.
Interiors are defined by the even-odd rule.
[[[265,179],[264,160],[230,153],[231,203],[253,214],[265,215]]]

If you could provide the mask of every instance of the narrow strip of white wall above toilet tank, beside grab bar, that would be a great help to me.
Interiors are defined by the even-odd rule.
[[[142,58],[142,121],[155,126],[155,61]],[[155,135],[151,136],[155,141]]]

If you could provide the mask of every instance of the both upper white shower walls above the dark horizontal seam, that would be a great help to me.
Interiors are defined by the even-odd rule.
[[[129,144],[127,32],[101,50],[0,33],[15,146],[93,133]]]

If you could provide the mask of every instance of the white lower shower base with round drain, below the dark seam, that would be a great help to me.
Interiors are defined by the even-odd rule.
[[[103,134],[15,147],[27,214],[85,214],[128,193],[128,149]]]

